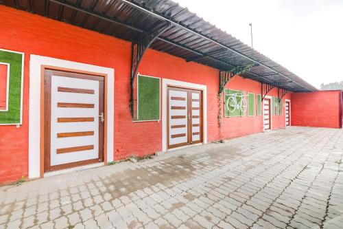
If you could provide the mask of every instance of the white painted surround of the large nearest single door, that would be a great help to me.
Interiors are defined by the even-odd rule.
[[[107,162],[113,161],[115,120],[115,69],[99,67],[73,61],[30,55],[29,61],[29,178],[40,177],[40,95],[42,91],[41,69],[43,65],[75,69],[75,71],[96,72],[107,75]]]

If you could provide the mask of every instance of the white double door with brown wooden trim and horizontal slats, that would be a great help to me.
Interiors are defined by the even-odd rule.
[[[202,142],[202,91],[168,87],[168,149]]]

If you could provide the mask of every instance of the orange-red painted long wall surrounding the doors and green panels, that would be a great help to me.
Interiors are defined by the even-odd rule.
[[[0,6],[0,21],[5,21],[0,23],[0,48],[25,53],[23,125],[19,129],[14,126],[0,127],[0,183],[19,179],[28,173],[29,54],[114,68],[115,160],[133,154],[146,155],[161,151],[161,122],[134,123],[130,116],[129,42],[5,6]],[[218,128],[217,69],[148,50],[139,72],[207,85],[209,142],[262,131],[262,116],[222,118],[223,126]],[[235,76],[226,87],[261,93],[259,83],[239,76]],[[275,94],[275,91],[270,94]],[[273,119],[277,123],[275,128],[285,126],[285,118],[279,119]]]

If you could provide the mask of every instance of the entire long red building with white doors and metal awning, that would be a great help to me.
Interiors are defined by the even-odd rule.
[[[172,1],[3,2],[2,183],[288,125],[342,128],[342,91]]]

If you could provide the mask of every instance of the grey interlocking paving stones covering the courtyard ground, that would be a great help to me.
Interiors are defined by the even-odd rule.
[[[343,130],[292,127],[0,188],[0,228],[343,228]]]

